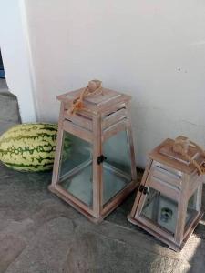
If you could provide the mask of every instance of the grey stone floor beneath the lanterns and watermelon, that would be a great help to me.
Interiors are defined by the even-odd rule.
[[[51,173],[0,173],[0,273],[204,272],[204,219],[176,253],[128,223],[135,195],[95,225],[48,192]]]

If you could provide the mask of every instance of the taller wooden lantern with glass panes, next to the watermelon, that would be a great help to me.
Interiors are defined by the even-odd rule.
[[[137,187],[130,96],[102,88],[70,109],[84,89],[58,96],[61,109],[49,189],[99,222]]]

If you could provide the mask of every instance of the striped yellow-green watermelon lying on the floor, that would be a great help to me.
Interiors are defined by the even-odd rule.
[[[19,171],[44,171],[54,164],[57,126],[21,124],[0,136],[0,160]]]

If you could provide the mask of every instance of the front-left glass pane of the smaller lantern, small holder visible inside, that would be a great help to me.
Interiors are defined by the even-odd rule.
[[[149,218],[155,224],[175,233],[177,224],[178,203],[165,197],[152,187],[146,195],[141,216]]]

